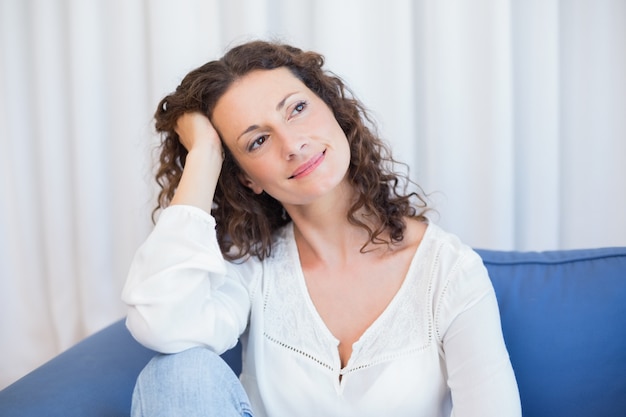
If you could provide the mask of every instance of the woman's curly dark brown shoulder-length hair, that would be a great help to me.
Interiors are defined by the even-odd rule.
[[[425,220],[428,205],[423,192],[419,187],[419,192],[407,192],[408,185],[415,184],[408,175],[391,170],[397,162],[378,137],[365,107],[323,65],[324,57],[318,53],[277,42],[252,41],[187,74],[176,91],[161,100],[155,113],[156,130],[162,139],[156,172],[161,191],[153,219],[171,202],[185,166],[187,150],[174,130],[177,119],[192,111],[211,118],[217,101],[234,81],[254,70],[286,67],[330,107],[348,138],[351,157],[347,177],[357,198],[347,218],[369,234],[362,250],[370,243],[401,241],[405,217]],[[267,193],[255,194],[240,182],[237,162],[226,146],[224,152],[211,210],[220,248],[230,260],[248,255],[264,259],[271,254],[274,232],[291,220],[279,201]],[[367,223],[357,212],[367,213]],[[372,224],[377,226],[372,228]],[[382,237],[385,232],[388,240]]]

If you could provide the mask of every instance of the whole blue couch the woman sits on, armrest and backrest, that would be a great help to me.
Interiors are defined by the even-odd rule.
[[[626,416],[626,248],[479,252],[524,417]],[[0,391],[0,416],[128,416],[153,354],[120,320]]]

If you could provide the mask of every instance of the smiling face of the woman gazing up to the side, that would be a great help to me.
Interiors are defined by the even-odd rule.
[[[257,70],[218,100],[212,122],[244,174],[242,183],[283,205],[336,190],[350,148],[333,112],[287,68]]]

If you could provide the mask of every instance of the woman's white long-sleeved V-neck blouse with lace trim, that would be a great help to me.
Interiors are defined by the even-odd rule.
[[[241,381],[258,417],[521,416],[486,269],[432,223],[343,368],[309,297],[292,224],[271,257],[230,263],[210,215],[171,206],[137,251],[122,298],[133,336],[159,352],[221,354],[241,337]]]

